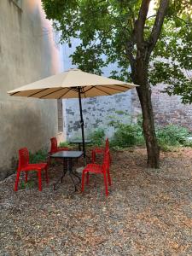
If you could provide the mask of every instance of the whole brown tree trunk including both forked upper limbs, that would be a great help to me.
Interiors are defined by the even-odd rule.
[[[160,167],[160,148],[154,131],[154,113],[148,84],[148,63],[160,37],[169,0],[160,0],[159,2],[160,6],[149,38],[146,40],[148,33],[144,32],[144,29],[150,0],[142,0],[137,20],[134,21],[131,38],[125,44],[125,52],[131,64],[131,78],[135,84],[140,85],[137,87],[137,94],[143,112],[143,132],[148,150],[148,166],[153,168]]]

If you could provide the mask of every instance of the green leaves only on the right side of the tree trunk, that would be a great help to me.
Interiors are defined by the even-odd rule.
[[[170,4],[152,59],[151,84],[167,84],[169,95],[192,103],[192,1]]]

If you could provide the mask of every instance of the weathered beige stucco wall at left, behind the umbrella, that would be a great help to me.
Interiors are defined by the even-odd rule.
[[[32,152],[49,143],[57,132],[55,101],[7,94],[21,85],[59,71],[51,25],[40,0],[0,1],[0,179],[13,172],[18,149]]]

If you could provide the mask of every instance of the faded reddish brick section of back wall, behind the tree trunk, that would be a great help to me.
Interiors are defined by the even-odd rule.
[[[152,102],[154,108],[154,122],[156,125],[180,125],[192,131],[192,105],[184,105],[180,96],[168,96],[162,93],[163,84],[152,87]],[[137,94],[133,95],[133,114],[141,112]]]

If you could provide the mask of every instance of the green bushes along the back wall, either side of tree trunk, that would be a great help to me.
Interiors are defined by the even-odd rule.
[[[128,119],[129,121],[130,119]],[[134,145],[143,145],[143,118],[137,117],[136,124],[123,124],[117,119],[112,119],[109,125],[113,125],[115,132],[110,141],[113,148],[127,148]],[[191,137],[188,129],[178,125],[166,125],[156,129],[156,136],[161,150],[168,151],[178,146],[192,146],[192,142],[187,141]]]

